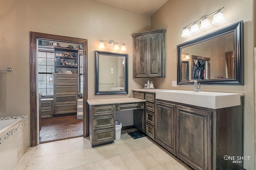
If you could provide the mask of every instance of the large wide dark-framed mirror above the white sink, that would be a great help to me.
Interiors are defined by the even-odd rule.
[[[243,60],[243,21],[239,21],[177,45],[177,82],[244,85]],[[191,68],[184,69],[184,63]]]

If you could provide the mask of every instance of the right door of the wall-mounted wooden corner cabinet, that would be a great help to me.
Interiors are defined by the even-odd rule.
[[[148,35],[148,77],[161,76],[161,33]]]

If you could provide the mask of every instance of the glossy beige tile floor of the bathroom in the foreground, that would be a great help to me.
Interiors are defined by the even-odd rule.
[[[148,137],[132,139],[122,131],[112,144],[90,146],[73,138],[30,147],[13,170],[191,170]]]

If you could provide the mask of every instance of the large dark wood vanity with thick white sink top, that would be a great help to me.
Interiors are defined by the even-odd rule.
[[[137,98],[155,95],[154,113],[146,109],[146,114],[151,113],[151,120],[154,120],[152,123],[145,119],[146,134],[162,147],[194,169],[242,169],[243,161],[232,163],[232,160],[225,160],[224,156],[243,156],[243,95],[157,89],[133,91]],[[191,101],[196,102],[194,105],[186,104],[190,95],[194,97],[194,101]],[[200,101],[200,98],[204,99]],[[207,107],[196,106],[204,102]],[[147,127],[152,127],[150,133]]]

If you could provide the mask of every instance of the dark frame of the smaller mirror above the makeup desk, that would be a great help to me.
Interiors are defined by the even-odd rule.
[[[106,55],[110,57],[123,57],[124,63],[124,90],[123,91],[99,91],[99,58],[100,55]],[[128,94],[128,54],[113,53],[108,51],[95,51],[95,95],[101,94]]]

